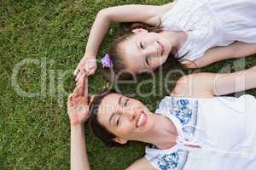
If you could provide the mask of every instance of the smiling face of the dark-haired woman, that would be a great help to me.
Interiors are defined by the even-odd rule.
[[[137,99],[109,94],[99,106],[98,121],[117,136],[116,142],[125,144],[127,140],[137,140],[150,130],[152,115]]]

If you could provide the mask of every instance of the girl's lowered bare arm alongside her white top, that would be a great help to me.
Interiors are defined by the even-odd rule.
[[[229,46],[210,48],[201,58],[195,59],[194,62],[184,61],[184,65],[188,68],[201,68],[220,60],[236,59],[252,54],[256,54],[255,43],[233,42]]]

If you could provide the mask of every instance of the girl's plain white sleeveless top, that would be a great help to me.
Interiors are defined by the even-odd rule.
[[[255,0],[178,0],[161,24],[166,31],[187,33],[177,57],[194,60],[212,47],[256,43],[255,10]]]

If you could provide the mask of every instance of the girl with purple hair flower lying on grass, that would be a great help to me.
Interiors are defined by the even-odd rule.
[[[132,25],[113,42],[102,60],[107,76],[125,69],[154,71],[170,55],[195,68],[255,54],[255,8],[256,1],[252,0],[178,0],[161,6],[104,8],[96,15],[74,75],[78,80],[83,71],[94,74],[98,48],[113,22],[142,24]]]

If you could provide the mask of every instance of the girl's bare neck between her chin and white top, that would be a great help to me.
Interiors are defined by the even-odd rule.
[[[187,40],[187,34],[184,31],[162,31],[163,36],[167,37],[168,42],[174,48],[181,48]]]

